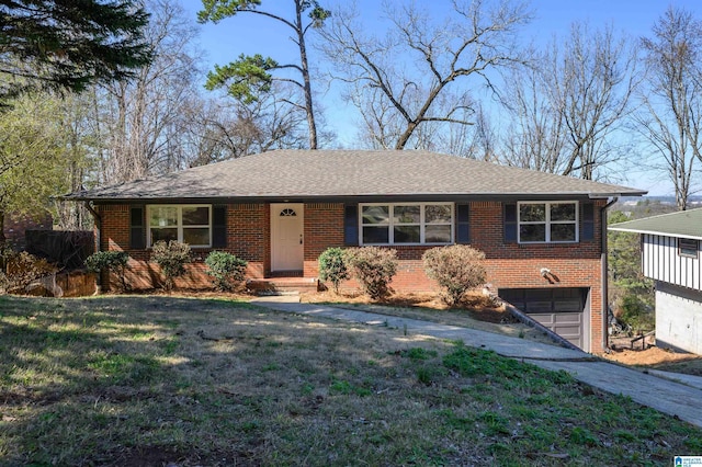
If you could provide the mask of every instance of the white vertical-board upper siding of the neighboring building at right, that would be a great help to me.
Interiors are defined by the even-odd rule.
[[[697,258],[678,254],[677,238],[642,235],[642,271],[646,277],[702,291],[702,253],[698,251]]]

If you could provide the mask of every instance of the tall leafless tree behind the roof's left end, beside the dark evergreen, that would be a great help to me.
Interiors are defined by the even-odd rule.
[[[197,95],[195,25],[176,0],[147,4],[151,16],[146,38],[152,62],[131,82],[95,91],[94,129],[106,141],[100,151],[103,181],[123,182],[172,170],[171,150],[186,125],[184,107]]]

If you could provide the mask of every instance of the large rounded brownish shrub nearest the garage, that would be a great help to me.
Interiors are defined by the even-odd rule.
[[[441,286],[441,298],[449,305],[461,303],[466,292],[485,284],[485,253],[465,244],[437,247],[424,251],[427,275]]]

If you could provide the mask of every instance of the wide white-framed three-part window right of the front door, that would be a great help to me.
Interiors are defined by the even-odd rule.
[[[361,244],[449,244],[453,203],[360,204]]]

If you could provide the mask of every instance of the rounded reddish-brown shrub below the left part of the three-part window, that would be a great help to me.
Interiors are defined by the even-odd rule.
[[[346,250],[344,257],[353,277],[369,297],[377,300],[389,294],[389,283],[397,272],[397,251],[361,247]]]

